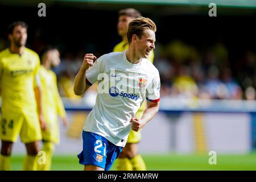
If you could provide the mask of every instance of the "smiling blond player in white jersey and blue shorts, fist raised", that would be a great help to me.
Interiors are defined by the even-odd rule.
[[[158,112],[159,72],[147,60],[155,48],[155,31],[151,19],[134,19],[128,26],[127,51],[108,53],[98,59],[92,53],[85,55],[74,92],[84,94],[98,81],[98,95],[82,132],[83,150],[78,157],[84,170],[109,170],[130,130],[140,130]],[[135,114],[145,99],[147,109],[138,119]]]

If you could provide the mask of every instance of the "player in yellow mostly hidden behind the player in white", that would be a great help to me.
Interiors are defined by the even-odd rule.
[[[128,48],[128,41],[126,37],[128,23],[141,16],[138,10],[135,9],[122,9],[118,12],[118,24],[117,30],[118,35],[122,37],[122,42],[117,44],[113,52],[122,52]],[[148,56],[148,60],[153,63],[154,52],[151,51]],[[143,102],[142,106],[139,108],[136,117],[141,118],[144,110],[147,108],[146,102]],[[146,165],[142,159],[142,156],[138,154],[137,143],[141,141],[141,130],[135,132],[131,130],[126,146],[123,148],[119,158],[117,159],[117,170],[119,171],[144,171],[146,170]]]

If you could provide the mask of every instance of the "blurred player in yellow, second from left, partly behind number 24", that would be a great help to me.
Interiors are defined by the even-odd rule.
[[[46,121],[46,130],[42,131],[43,148],[46,154],[46,163],[38,164],[39,170],[51,170],[51,161],[54,144],[59,143],[59,121],[60,115],[63,125],[67,125],[66,112],[57,89],[57,78],[52,67],[60,64],[60,53],[56,48],[48,47],[41,55],[42,65],[39,68],[40,82],[42,88],[42,108]]]

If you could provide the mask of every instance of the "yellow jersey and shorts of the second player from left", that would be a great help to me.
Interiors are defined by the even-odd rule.
[[[46,131],[42,131],[43,140],[59,143],[59,122],[66,116],[63,102],[57,89],[57,78],[53,71],[42,65],[39,68],[40,84],[42,89],[43,115],[47,124]]]

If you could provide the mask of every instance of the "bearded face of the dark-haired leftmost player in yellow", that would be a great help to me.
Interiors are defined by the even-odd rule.
[[[11,43],[14,43],[16,47],[25,46],[27,42],[27,28],[20,25],[14,27],[13,34],[10,35]]]

